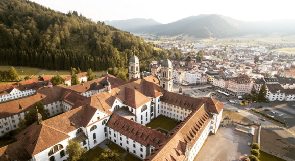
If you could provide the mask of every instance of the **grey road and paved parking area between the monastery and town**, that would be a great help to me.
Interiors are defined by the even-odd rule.
[[[173,84],[173,90],[174,92],[178,93],[180,84]],[[217,93],[215,92],[213,89],[208,89],[207,87],[211,87],[210,84],[206,84],[206,85],[196,85],[196,86],[182,86],[183,87],[183,93],[185,94],[193,94],[195,95],[194,97],[198,97],[199,96],[204,96],[209,94],[210,92],[212,93]],[[206,90],[208,90],[207,92],[202,92],[201,90],[199,90],[199,88],[205,88]],[[270,111],[264,111],[266,114],[271,114],[273,116],[275,116],[275,118],[284,121],[286,123],[288,123],[288,127],[283,127],[281,126],[281,124],[273,122],[271,120],[268,120],[267,118],[266,121],[262,121],[259,120],[261,116],[261,114],[256,114],[253,113],[251,111],[245,110],[244,108],[246,107],[245,105],[240,105],[240,104],[232,104],[229,101],[227,101],[226,99],[238,99],[237,96],[229,96],[226,97],[223,94],[219,94],[218,95],[222,96],[222,98],[213,96],[213,98],[218,99],[220,102],[225,103],[225,108],[228,108],[232,111],[235,111],[236,109],[240,110],[240,114],[257,122],[261,122],[262,128],[267,128],[270,130],[275,131],[276,133],[278,133],[280,136],[282,136],[283,138],[287,139],[288,141],[290,141],[292,144],[295,144],[295,101],[290,101],[290,102],[271,102],[271,103],[252,103],[251,107],[254,107],[256,110],[258,111],[264,111],[265,108],[270,109],[270,110],[275,110],[278,111],[278,114],[283,114],[284,116],[278,116],[278,114],[273,114]],[[262,108],[257,108],[258,106],[262,106]]]

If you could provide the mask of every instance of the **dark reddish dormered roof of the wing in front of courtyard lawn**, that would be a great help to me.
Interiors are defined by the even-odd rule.
[[[157,147],[168,138],[159,131],[121,117],[117,114],[113,114],[111,116],[106,126],[144,146],[152,145],[153,147]]]

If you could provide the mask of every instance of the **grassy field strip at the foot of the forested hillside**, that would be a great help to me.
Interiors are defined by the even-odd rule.
[[[0,70],[8,70],[10,66],[7,65],[0,65]],[[25,76],[30,76],[31,78],[38,78],[39,75],[41,76],[55,76],[55,75],[70,75],[69,70],[46,70],[46,69],[39,69],[35,67],[22,67],[22,66],[15,66],[15,70],[17,71],[19,78],[24,79]],[[101,77],[103,74],[106,74],[106,71],[93,71],[96,77]],[[8,84],[13,82],[0,82],[0,85]]]

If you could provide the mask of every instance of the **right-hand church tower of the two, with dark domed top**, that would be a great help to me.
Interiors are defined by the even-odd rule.
[[[160,85],[166,91],[172,91],[172,62],[167,58],[162,62]]]

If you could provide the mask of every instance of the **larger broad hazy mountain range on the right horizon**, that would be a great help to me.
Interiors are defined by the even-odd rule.
[[[268,35],[274,32],[286,35],[295,33],[295,20],[245,22],[218,14],[190,16],[169,24],[135,26],[128,20],[120,21],[120,24],[124,23],[129,23],[130,28],[127,27],[128,25],[125,25],[124,29],[117,24],[114,26],[133,33],[150,33],[158,36],[187,35],[195,38],[223,38],[247,34]]]

